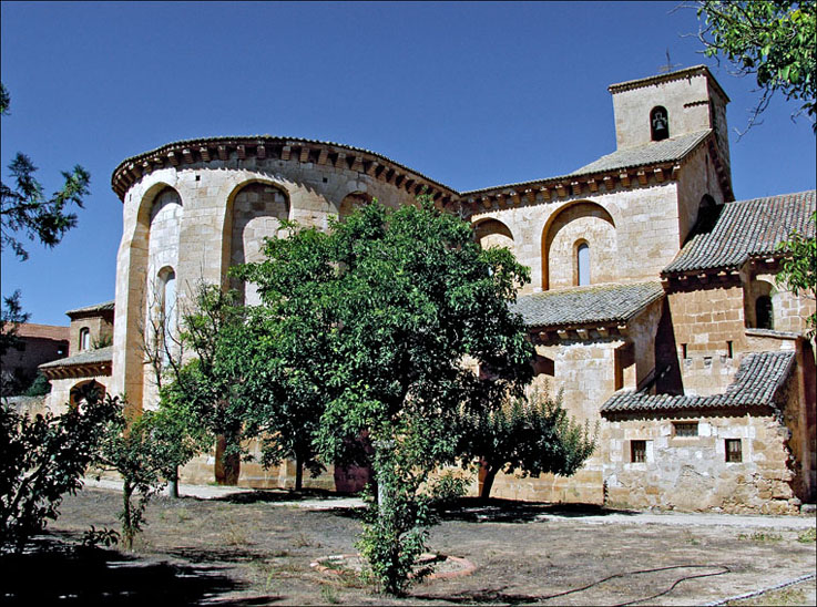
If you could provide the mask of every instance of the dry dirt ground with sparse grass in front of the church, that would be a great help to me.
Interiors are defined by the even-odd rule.
[[[85,488],[65,498],[35,549],[0,558],[0,604],[703,605],[815,572],[814,539],[798,541],[814,517],[678,518],[466,500],[442,514],[429,547],[471,560],[473,574],[395,599],[351,575],[310,568],[316,558],[355,553],[360,528],[359,510],[298,504],[320,497],[157,497],[125,553],[78,546],[91,525],[119,528],[120,494]],[[814,605],[814,587],[810,578],[749,603]]]

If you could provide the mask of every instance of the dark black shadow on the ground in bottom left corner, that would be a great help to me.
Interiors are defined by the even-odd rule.
[[[3,605],[194,605],[244,585],[216,567],[136,559],[112,549],[39,536],[20,555],[0,556]],[[267,605],[280,597],[237,599]]]

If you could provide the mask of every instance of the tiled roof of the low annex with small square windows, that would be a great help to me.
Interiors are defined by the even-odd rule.
[[[685,411],[732,409],[738,407],[775,407],[775,398],[794,367],[794,352],[754,352],[746,354],[735,380],[723,394],[712,397],[646,394],[621,390],[602,408],[602,413],[637,413],[645,411]]]

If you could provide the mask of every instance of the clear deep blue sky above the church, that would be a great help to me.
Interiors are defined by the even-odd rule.
[[[48,192],[83,165],[92,193],[57,248],[2,255],[31,321],[113,299],[124,158],[183,138],[272,134],[365,147],[456,189],[573,171],[615,147],[611,83],[709,65],[746,124],[754,83],[699,54],[677,2],[2,2],[11,93],[0,160]],[[815,187],[815,136],[780,97],[732,136],[738,199]]]

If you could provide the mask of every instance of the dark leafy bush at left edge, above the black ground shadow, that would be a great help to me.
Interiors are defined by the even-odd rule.
[[[0,405],[0,547],[20,552],[48,519],[59,516],[65,493],[82,486],[82,475],[100,445],[116,401],[86,390],[79,408],[33,419]]]

